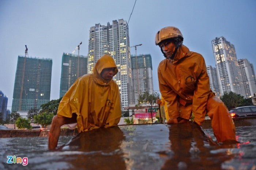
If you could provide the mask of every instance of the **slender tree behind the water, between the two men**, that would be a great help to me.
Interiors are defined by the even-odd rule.
[[[153,111],[153,106],[155,106],[156,104],[155,101],[157,100],[157,97],[158,97],[157,92],[149,94],[149,92],[146,91],[146,92],[140,93],[139,99],[138,99],[138,105],[145,104],[150,108],[152,123],[153,123],[152,111]]]

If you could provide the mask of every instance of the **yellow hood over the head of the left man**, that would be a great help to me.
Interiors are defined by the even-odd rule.
[[[107,68],[112,68],[112,67],[116,68],[114,71],[114,76],[115,76],[117,74],[118,70],[117,70],[117,66],[114,62],[113,57],[111,57],[108,54],[105,54],[105,55],[102,55],[102,57],[98,59],[98,61],[95,64],[95,67],[93,69],[93,76],[96,77],[97,79],[99,79],[99,80],[97,80],[97,82],[99,84],[106,83],[105,80],[101,77],[102,70],[107,69]]]

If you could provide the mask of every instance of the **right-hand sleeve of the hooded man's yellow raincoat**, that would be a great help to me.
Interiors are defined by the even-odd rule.
[[[120,104],[120,93],[118,86],[115,84],[114,90],[114,101],[111,105],[111,109],[109,111],[109,116],[106,120],[105,128],[111,126],[117,126],[121,118],[121,104]]]

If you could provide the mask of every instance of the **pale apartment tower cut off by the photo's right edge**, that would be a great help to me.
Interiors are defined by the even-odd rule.
[[[239,59],[238,65],[242,72],[246,98],[253,97],[256,93],[256,80],[253,65],[247,59]]]

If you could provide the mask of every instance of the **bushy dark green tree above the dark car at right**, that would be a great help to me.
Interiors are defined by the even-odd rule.
[[[230,92],[224,92],[224,94],[221,96],[221,100],[230,110],[240,106],[244,101],[244,97],[241,96],[240,94],[230,91]]]

